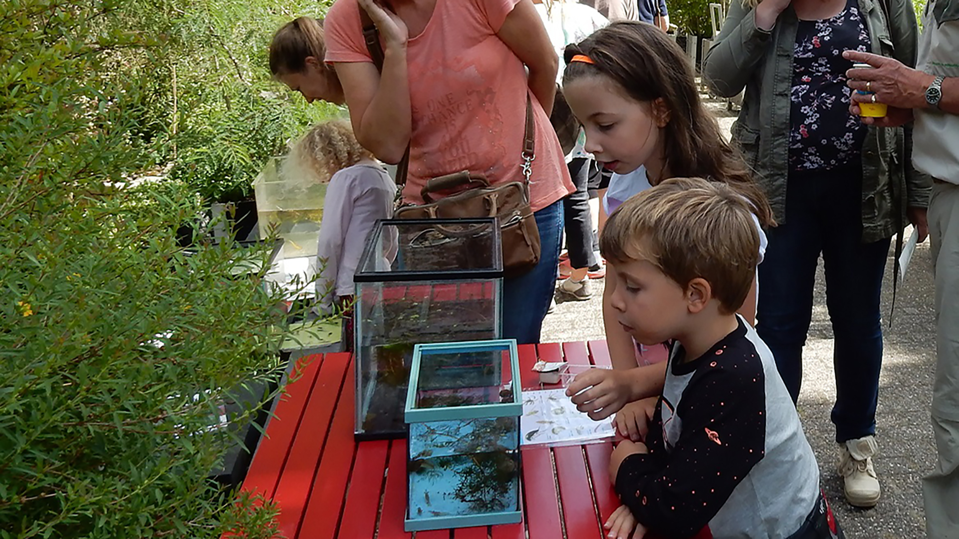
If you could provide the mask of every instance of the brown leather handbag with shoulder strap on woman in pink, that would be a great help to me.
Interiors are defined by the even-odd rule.
[[[360,8],[363,37],[370,56],[378,69],[383,68],[383,49],[376,27],[369,15]],[[521,172],[517,181],[490,185],[484,176],[462,171],[434,177],[420,191],[422,205],[402,205],[393,212],[395,219],[456,219],[496,217],[499,219],[503,246],[503,274],[506,277],[522,275],[533,269],[540,259],[540,236],[536,219],[529,207],[529,176],[535,157],[535,124],[532,102],[526,96],[526,127],[524,129]],[[399,192],[407,182],[409,147],[397,165],[396,183]],[[456,194],[433,200],[431,195],[442,191],[461,189]]]

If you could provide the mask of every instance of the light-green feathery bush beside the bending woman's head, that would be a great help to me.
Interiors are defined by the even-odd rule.
[[[250,183],[270,157],[284,153],[311,124],[343,113],[335,105],[307,104],[269,73],[273,32],[295,15],[318,16],[332,2],[181,4],[171,34],[176,47],[156,76],[170,118],[165,148],[175,164],[172,176],[204,199],[251,198]]]

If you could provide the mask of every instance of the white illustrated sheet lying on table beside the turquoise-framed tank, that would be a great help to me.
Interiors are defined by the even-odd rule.
[[[565,388],[524,391],[520,430],[523,445],[601,440],[615,434],[609,419],[594,421],[576,410]]]

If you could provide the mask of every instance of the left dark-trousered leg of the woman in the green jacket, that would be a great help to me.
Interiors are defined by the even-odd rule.
[[[769,346],[793,402],[803,383],[803,345],[812,319],[812,290],[822,248],[820,199],[812,175],[789,176],[785,223],[766,230],[759,268],[756,331]]]

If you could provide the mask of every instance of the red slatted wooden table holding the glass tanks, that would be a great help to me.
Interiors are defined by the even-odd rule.
[[[524,389],[539,389],[537,359],[609,365],[606,342],[519,347]],[[355,442],[349,354],[301,358],[304,374],[277,403],[243,488],[280,509],[288,538],[529,539],[600,538],[619,505],[607,474],[611,443],[523,450],[524,522],[403,531],[406,440]],[[300,365],[298,365],[299,367]]]

